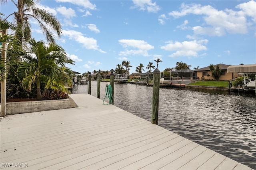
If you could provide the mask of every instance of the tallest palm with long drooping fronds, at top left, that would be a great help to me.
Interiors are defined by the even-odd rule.
[[[16,30],[15,34],[18,40],[20,40],[21,45],[23,42],[27,42],[31,39],[30,18],[33,18],[38,22],[38,26],[42,30],[42,33],[45,34],[48,43],[55,42],[52,31],[56,32],[60,38],[62,33],[60,22],[54,15],[50,14],[46,10],[37,8],[34,1],[39,2],[40,0],[18,0],[16,3],[13,0],[11,1],[17,7],[17,11],[9,16],[14,16],[14,23],[17,28],[20,28]],[[9,0],[0,0],[1,4],[4,4],[5,2],[9,2]],[[9,16],[7,16],[5,20]]]

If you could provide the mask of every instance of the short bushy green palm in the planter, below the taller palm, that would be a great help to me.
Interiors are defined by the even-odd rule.
[[[73,76],[65,64],[73,64],[74,61],[66,57],[64,49],[55,43],[46,46],[44,42],[32,39],[29,45],[27,55],[18,68],[18,74],[25,90],[31,91],[32,84],[36,83],[36,98],[41,100],[40,83],[45,84],[44,92],[51,88],[64,89],[64,84],[70,83]]]

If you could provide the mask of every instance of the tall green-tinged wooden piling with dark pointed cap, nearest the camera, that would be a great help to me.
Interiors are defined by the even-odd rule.
[[[151,123],[158,124],[159,88],[160,75],[158,68],[153,71],[153,97],[152,97],[152,118]]]

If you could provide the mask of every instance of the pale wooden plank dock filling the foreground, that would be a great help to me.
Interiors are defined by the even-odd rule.
[[[96,97],[71,97],[78,107],[0,119],[1,169],[252,170]]]

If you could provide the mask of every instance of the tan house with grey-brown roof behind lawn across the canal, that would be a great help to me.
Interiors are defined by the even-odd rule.
[[[220,75],[219,80],[231,80],[234,79],[234,75],[233,73],[228,73],[228,66],[230,65],[226,65],[226,64],[216,64],[213,65],[214,67],[216,67],[217,65],[219,65],[220,69],[222,70],[222,74]],[[196,69],[194,70],[196,71],[196,77],[199,80],[213,80],[214,78],[212,77],[212,71],[210,71],[210,67],[204,67],[201,69]]]

